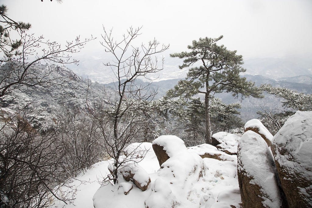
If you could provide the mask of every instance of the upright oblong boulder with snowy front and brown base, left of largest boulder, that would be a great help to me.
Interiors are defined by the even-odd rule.
[[[270,149],[253,131],[246,131],[239,142],[237,174],[243,207],[283,207]]]

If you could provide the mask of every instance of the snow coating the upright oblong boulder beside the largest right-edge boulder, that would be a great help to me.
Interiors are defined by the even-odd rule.
[[[257,133],[246,131],[239,142],[239,172],[250,177],[250,183],[260,186],[264,207],[280,207],[281,198],[276,181],[276,168],[270,148]]]

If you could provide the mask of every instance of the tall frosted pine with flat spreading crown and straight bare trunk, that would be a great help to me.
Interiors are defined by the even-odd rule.
[[[211,116],[209,100],[215,93],[228,92],[241,99],[244,96],[261,97],[261,91],[253,82],[246,81],[239,74],[246,70],[241,67],[243,59],[236,51],[228,50],[224,45],[217,45],[218,38],[200,38],[188,46],[189,52],[174,53],[170,56],[183,60],[180,69],[189,67],[185,80],[168,91],[169,97],[190,98],[196,94],[205,96],[206,143],[211,143]]]

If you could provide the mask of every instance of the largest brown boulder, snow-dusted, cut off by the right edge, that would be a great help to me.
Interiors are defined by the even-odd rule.
[[[312,207],[312,111],[291,116],[271,150],[288,206]]]

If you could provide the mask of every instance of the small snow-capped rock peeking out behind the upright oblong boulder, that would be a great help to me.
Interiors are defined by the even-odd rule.
[[[259,134],[264,141],[266,141],[268,147],[271,146],[271,141],[273,139],[273,135],[269,132],[269,130],[261,123],[258,119],[251,119],[245,123],[244,126],[245,132],[251,130]]]

